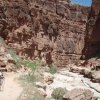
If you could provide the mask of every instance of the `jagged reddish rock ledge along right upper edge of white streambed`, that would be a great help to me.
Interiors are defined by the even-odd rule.
[[[82,74],[84,77],[89,78],[94,83],[100,83],[100,70],[89,68],[89,66],[83,67],[83,66],[69,66],[69,71],[73,73],[79,73]]]

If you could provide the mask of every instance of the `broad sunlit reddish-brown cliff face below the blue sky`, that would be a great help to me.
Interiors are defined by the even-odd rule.
[[[65,66],[80,59],[88,10],[69,0],[0,0],[0,35],[20,56]]]

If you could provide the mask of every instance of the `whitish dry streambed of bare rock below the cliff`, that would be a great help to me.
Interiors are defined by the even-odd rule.
[[[63,78],[63,76],[65,78]],[[93,83],[82,75],[62,70],[55,74],[55,81],[61,82],[62,87],[64,86],[67,90],[72,90],[74,88],[89,89],[94,93],[94,96],[100,98],[100,84]]]

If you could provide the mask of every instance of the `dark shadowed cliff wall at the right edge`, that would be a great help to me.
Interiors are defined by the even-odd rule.
[[[100,57],[100,0],[93,0],[92,3],[86,28],[83,54],[85,59]]]

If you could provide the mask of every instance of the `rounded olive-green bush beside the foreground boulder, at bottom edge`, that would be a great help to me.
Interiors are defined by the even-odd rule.
[[[63,95],[66,92],[67,92],[66,89],[59,87],[59,88],[54,89],[51,95],[55,100],[62,100]]]

